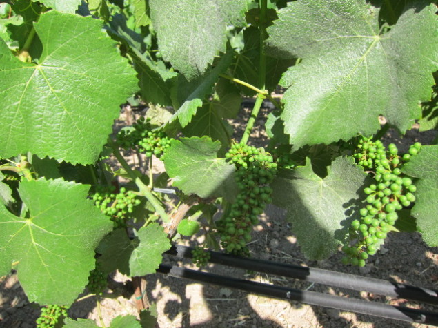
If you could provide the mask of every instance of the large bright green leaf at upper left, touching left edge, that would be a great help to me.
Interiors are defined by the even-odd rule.
[[[137,90],[135,72],[97,19],[52,10],[34,28],[38,64],[19,61],[0,40],[0,156],[93,163],[119,104]]]

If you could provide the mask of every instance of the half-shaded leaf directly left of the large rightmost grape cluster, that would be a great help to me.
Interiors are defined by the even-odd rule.
[[[366,174],[350,158],[337,158],[326,178],[312,171],[310,160],[295,170],[281,170],[271,187],[273,203],[288,211],[288,220],[310,259],[319,260],[344,243],[350,222],[360,218],[357,201]]]

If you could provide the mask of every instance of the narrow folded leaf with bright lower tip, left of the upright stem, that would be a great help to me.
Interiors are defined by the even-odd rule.
[[[181,127],[185,127],[192,120],[198,107],[202,106],[203,98],[212,93],[212,88],[219,79],[219,74],[226,71],[232,60],[232,53],[227,52],[218,59],[217,65],[201,78],[188,81],[181,74],[174,80],[172,88],[173,107],[178,108],[170,122],[179,120]]]

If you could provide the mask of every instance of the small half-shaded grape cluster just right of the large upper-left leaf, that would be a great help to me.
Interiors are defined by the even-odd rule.
[[[121,130],[117,134],[117,141],[123,149],[137,147],[146,157],[154,154],[161,158],[170,147],[170,140],[166,132],[157,130],[150,124],[150,119],[145,120],[143,117],[132,125],[132,130]]]

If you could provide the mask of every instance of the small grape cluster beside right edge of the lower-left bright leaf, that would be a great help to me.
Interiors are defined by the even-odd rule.
[[[94,205],[99,207],[103,214],[111,217],[115,228],[126,227],[126,220],[129,214],[134,212],[135,206],[141,201],[137,198],[135,192],[126,191],[126,188],[120,188],[120,192],[115,194],[115,186],[96,187],[96,193],[93,195]]]

